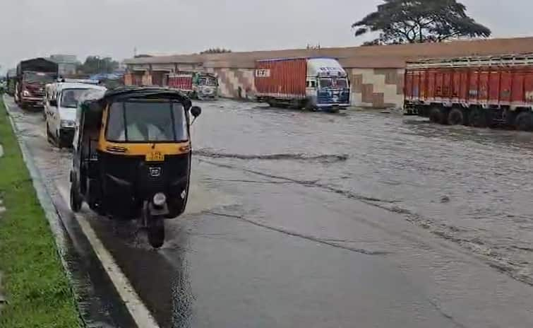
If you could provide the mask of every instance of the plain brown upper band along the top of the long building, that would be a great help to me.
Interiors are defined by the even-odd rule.
[[[126,64],[202,63],[211,68],[253,68],[256,60],[283,57],[334,57],[342,66],[354,68],[403,68],[406,61],[533,52],[533,37],[462,40],[443,43],[285,49],[224,54],[189,54],[127,59]]]

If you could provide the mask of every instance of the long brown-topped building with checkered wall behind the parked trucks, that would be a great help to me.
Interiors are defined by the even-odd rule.
[[[490,56],[533,52],[533,37],[465,40],[414,45],[287,49],[227,54],[191,54],[126,59],[126,84],[164,85],[164,75],[175,71],[217,74],[220,95],[252,98],[254,66],[258,59],[282,57],[335,57],[349,73],[352,105],[402,107],[405,64],[424,58]]]

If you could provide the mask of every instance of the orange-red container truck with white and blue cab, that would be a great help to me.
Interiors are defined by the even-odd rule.
[[[346,71],[333,58],[256,61],[256,97],[270,106],[338,112],[349,107]]]

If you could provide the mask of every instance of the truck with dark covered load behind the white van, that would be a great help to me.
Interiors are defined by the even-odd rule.
[[[44,58],[20,61],[15,84],[15,101],[18,105],[23,108],[42,108],[44,86],[56,80],[57,69],[54,61]]]

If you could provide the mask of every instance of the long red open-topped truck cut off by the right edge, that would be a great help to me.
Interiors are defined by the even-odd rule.
[[[407,63],[405,115],[533,130],[533,54]]]

